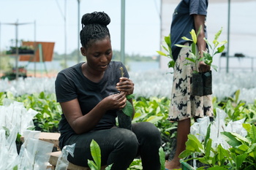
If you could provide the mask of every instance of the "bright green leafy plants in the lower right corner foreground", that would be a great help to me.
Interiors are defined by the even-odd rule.
[[[208,126],[207,136],[209,136]],[[247,136],[242,137],[232,132],[221,132],[225,141],[230,144],[229,149],[224,149],[221,144],[212,147],[212,140],[206,138],[200,143],[196,136],[189,134],[186,142],[186,150],[181,152],[180,158],[184,161],[195,159],[204,163],[205,167],[200,169],[255,169],[256,168],[256,127],[248,123],[243,125]],[[189,158],[190,156],[190,158]]]

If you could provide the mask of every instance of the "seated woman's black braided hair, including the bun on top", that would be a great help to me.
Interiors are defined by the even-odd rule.
[[[80,42],[85,48],[88,48],[92,42],[99,39],[105,39],[110,33],[108,24],[110,17],[105,12],[92,12],[83,15],[81,20],[82,30],[80,31]]]

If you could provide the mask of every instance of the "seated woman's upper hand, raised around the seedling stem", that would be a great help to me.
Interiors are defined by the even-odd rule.
[[[120,77],[120,82],[116,84],[118,91],[124,91],[126,95],[132,94],[134,90],[134,83],[127,77]]]

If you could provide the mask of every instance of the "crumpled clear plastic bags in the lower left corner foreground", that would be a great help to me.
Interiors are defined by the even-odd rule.
[[[34,127],[33,117],[37,114],[33,109],[26,110],[23,103],[4,100],[0,106],[0,169],[41,170],[47,169],[53,144],[39,140],[40,131],[29,131]],[[16,138],[24,136],[18,155]]]

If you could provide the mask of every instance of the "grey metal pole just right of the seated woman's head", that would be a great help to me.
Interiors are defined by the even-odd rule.
[[[121,62],[125,64],[125,0],[121,0]]]

